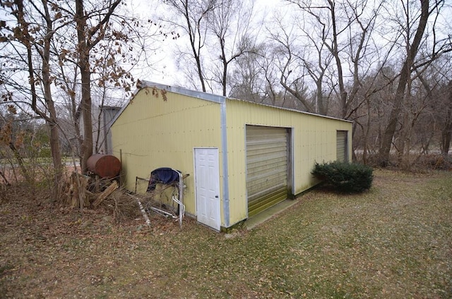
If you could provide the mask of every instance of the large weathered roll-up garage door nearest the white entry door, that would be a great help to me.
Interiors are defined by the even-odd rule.
[[[248,216],[287,198],[287,128],[246,126]]]

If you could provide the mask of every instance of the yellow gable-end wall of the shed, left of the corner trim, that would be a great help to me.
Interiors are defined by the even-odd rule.
[[[172,92],[156,97],[148,88],[138,92],[114,122],[113,154],[120,158],[122,152],[129,190],[134,190],[136,176],[149,178],[159,167],[189,173],[184,202],[186,212],[196,214],[193,149],[218,147],[221,153],[220,136],[220,104]],[[138,185],[138,192],[145,192],[145,184]]]

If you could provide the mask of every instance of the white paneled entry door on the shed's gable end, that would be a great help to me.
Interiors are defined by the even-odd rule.
[[[220,231],[220,172],[218,149],[196,148],[196,217],[201,224]]]

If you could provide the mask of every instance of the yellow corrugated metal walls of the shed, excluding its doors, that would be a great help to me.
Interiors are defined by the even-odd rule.
[[[194,147],[219,149],[220,193],[223,194],[222,105],[173,92],[166,92],[165,97],[161,92],[157,94],[158,97],[150,88],[139,91],[114,122],[111,129],[113,154],[122,159],[129,190],[134,190],[136,176],[149,178],[150,171],[159,167],[189,173],[184,202],[186,212],[195,214]],[[352,123],[332,118],[234,99],[227,99],[225,112],[229,214],[223,210],[222,203],[222,225],[232,226],[247,216],[246,125],[292,128],[289,161],[292,161],[293,176],[287,183],[294,194],[318,183],[310,173],[315,161],[336,159],[337,130],[347,131],[347,138],[351,140]],[[347,154],[351,159],[351,142],[348,143]],[[144,192],[145,187],[145,184],[138,185],[138,191]],[[229,216],[228,221],[224,214]]]

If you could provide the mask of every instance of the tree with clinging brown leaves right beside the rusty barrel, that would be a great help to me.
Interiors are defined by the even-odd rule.
[[[114,95],[127,97],[135,83],[131,69],[141,64],[141,68],[146,66],[150,71],[148,61],[150,57],[147,53],[153,49],[149,44],[155,42],[157,35],[163,36],[164,39],[168,36],[152,20],[141,20],[133,16],[120,1],[114,1],[116,8],[110,6],[112,3],[104,1],[95,4],[83,1],[82,4],[87,7],[83,9],[85,16],[81,18],[76,16],[76,10],[69,6],[64,11],[64,16],[69,20],[84,18],[85,33],[78,30],[83,27],[81,21],[73,21],[68,30],[60,32],[58,39],[60,48],[54,50],[59,59],[56,85],[63,91],[60,97],[64,98],[73,121],[75,128],[73,138],[79,142],[75,146],[82,169],[85,169],[84,161],[90,157],[93,150],[97,152],[99,135],[99,130],[96,129],[99,126],[95,126],[99,114],[95,116],[92,110],[87,111],[87,107],[93,109],[93,106],[100,106],[102,111],[104,104],[109,106],[121,104],[121,100],[112,103],[108,99],[114,98]],[[85,49],[81,51],[83,47]],[[84,54],[86,52],[88,55]],[[83,62],[87,58],[88,61]],[[83,73],[82,70],[86,68],[89,72]],[[86,102],[88,90],[90,104]],[[90,129],[90,122],[93,121],[95,123],[91,125],[94,128]]]

